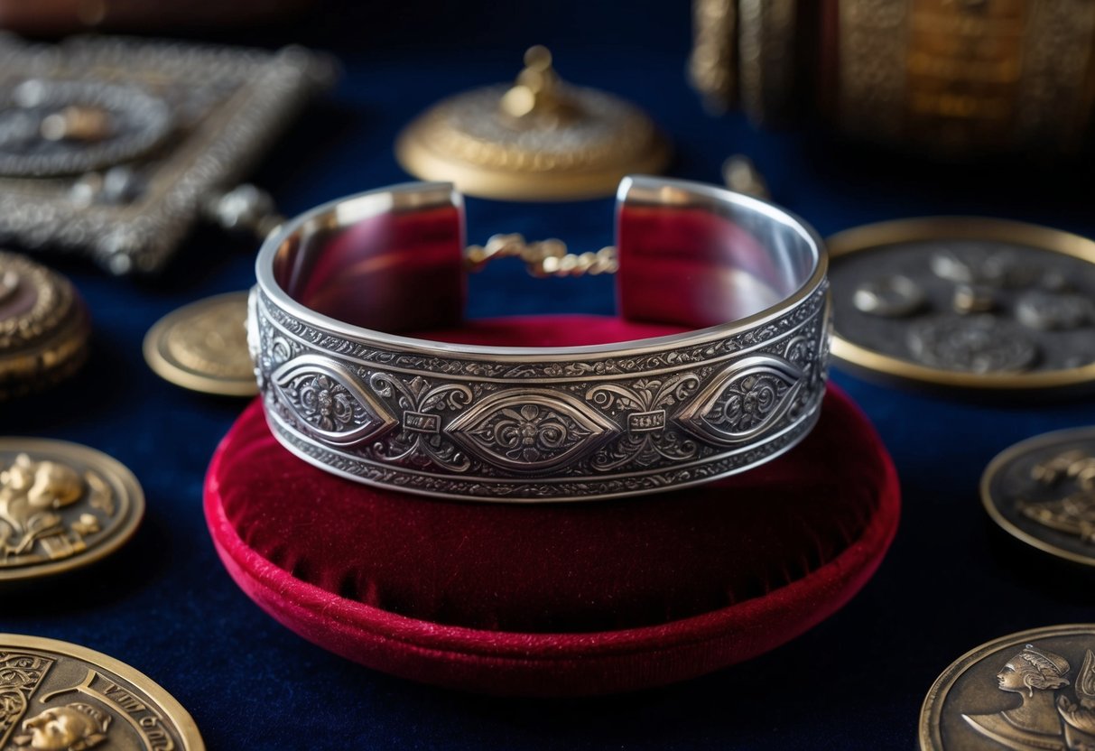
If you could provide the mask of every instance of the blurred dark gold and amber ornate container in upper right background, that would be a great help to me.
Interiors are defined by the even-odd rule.
[[[943,155],[1072,153],[1093,130],[1090,0],[695,0],[694,13],[694,85],[759,124],[820,114]]]

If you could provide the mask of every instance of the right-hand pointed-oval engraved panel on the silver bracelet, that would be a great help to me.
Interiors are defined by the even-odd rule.
[[[750,441],[786,414],[804,376],[798,366],[779,357],[747,357],[717,373],[676,419],[715,443]]]

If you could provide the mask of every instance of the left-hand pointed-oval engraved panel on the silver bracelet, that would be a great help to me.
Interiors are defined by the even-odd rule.
[[[274,371],[274,389],[301,427],[335,446],[351,446],[399,420],[338,362],[303,355]]]

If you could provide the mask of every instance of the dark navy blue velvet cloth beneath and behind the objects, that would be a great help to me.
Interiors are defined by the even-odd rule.
[[[689,15],[683,1],[665,0],[520,8],[419,0],[327,4],[288,26],[196,35],[299,41],[343,60],[337,90],[255,175],[288,213],[407,180],[391,152],[399,128],[440,96],[509,79],[523,48],[544,43],[564,77],[654,114],[678,147],[671,174],[718,182],[723,159],[746,152],[775,198],[822,234],[926,213],[1002,216],[1095,234],[1090,161],[947,167],[803,130],[760,134],[739,116],[710,118],[685,84]],[[468,204],[473,242],[499,231],[561,236],[583,250],[611,242],[609,200]],[[551,702],[436,690],[328,655],[247,600],[206,532],[203,475],[242,403],[159,380],[140,351],[164,313],[250,286],[254,250],[199,231],[159,281],[107,278],[53,258],[90,304],[94,354],[64,388],[0,405],[0,432],[99,448],[131,467],[148,496],[143,527],[113,559],[0,590],[0,631],[76,642],[137,667],[188,707],[211,749],[911,748],[924,693],[954,658],[1012,631],[1095,621],[1090,579],[999,544],[977,495],[982,467],[1001,449],[1095,423],[1091,400],[977,405],[837,373],[892,453],[904,509],[876,578],[792,644],[678,686]],[[612,305],[608,279],[537,281],[509,265],[475,277],[471,289],[473,315],[603,313]]]

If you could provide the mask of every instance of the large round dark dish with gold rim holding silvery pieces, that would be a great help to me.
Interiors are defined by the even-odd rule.
[[[868,224],[828,245],[838,365],[981,393],[1095,384],[1095,242],[947,217]]]

